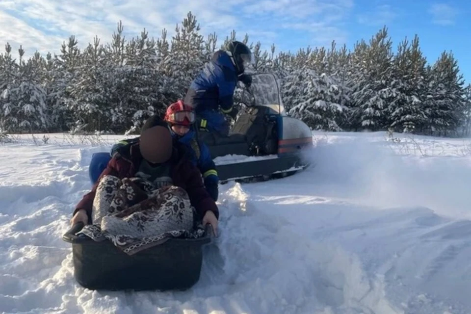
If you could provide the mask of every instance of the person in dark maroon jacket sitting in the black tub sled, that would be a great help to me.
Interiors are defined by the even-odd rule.
[[[183,144],[172,140],[167,124],[157,115],[147,119],[138,143],[121,147],[109,161],[92,190],[76,206],[71,223],[92,223],[92,206],[100,180],[112,175],[120,179],[143,177],[157,186],[173,184],[182,187],[191,205],[217,235],[219,210],[206,190],[201,173],[188,158]]]

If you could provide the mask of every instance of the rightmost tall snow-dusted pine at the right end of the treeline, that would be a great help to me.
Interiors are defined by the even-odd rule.
[[[451,52],[442,52],[429,68],[425,112],[428,123],[424,131],[431,135],[455,135],[464,112],[464,80]]]

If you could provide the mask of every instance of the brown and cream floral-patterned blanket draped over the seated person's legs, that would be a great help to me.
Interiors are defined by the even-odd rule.
[[[156,246],[170,237],[198,238],[195,209],[178,186],[156,188],[141,178],[105,176],[93,202],[93,224],[80,233],[95,241],[110,240],[128,255]]]

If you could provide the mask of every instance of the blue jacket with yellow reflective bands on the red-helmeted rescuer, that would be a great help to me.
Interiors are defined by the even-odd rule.
[[[178,138],[178,134],[170,130],[174,139]],[[126,139],[114,144],[111,148],[111,157],[116,151],[131,142],[137,142],[139,137]],[[188,148],[189,158],[191,162],[200,170],[203,175],[206,190],[214,201],[217,201],[219,190],[218,183],[219,177],[217,176],[216,165],[212,161],[211,154],[208,146],[205,143],[198,141],[195,137],[195,131],[190,130],[188,133],[178,138],[180,143],[183,143]]]

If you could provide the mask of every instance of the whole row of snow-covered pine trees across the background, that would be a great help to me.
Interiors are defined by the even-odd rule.
[[[38,121],[50,121],[50,131],[77,130],[85,125],[89,128],[86,131],[122,132],[138,128],[146,115],[162,112],[170,102],[182,97],[191,79],[216,50],[215,33],[205,40],[191,12],[177,30],[172,47],[165,29],[157,41],[149,39],[144,30],[144,35],[126,42],[118,31],[103,48],[105,56],[100,62],[94,56],[93,44],[82,53],[74,36],[63,43],[59,55],[49,53],[43,58],[36,54],[27,61],[13,60],[7,45],[7,53],[0,54],[0,128],[22,131],[19,119],[28,122],[29,131],[44,129]],[[235,31],[226,37],[226,41],[230,39],[235,39]],[[248,42],[247,34],[242,41]],[[393,124],[397,131],[414,128],[416,132],[433,135],[455,134],[457,127],[460,133],[468,132],[469,95],[463,94],[456,60],[446,54],[433,67],[422,67],[424,58],[418,40],[407,49],[400,48],[395,59],[385,28],[369,44],[358,43],[353,52],[347,52],[345,46],[335,49],[335,42],[329,51],[308,47],[297,53],[279,52],[276,56],[274,45],[268,52],[262,51],[260,42],[250,46],[256,57],[255,69],[274,72],[280,78],[288,112],[293,106],[299,108],[302,102],[306,103],[308,97],[355,109],[348,117],[339,116],[339,111],[325,113],[320,112],[319,106],[314,107],[313,115],[325,116],[327,121],[313,120],[310,123],[315,128],[338,129],[334,121],[343,130],[381,130]],[[308,73],[309,69],[313,71]],[[21,85],[20,75],[27,84]],[[36,94],[31,87],[34,84],[44,89],[40,95],[45,94],[46,98],[32,100],[30,96]],[[421,92],[422,84],[426,93]],[[29,87],[25,88],[26,85]],[[21,95],[15,92],[20,86],[25,88]],[[330,94],[320,95],[321,90]],[[22,104],[30,102],[32,107],[44,101],[47,119],[43,116],[31,122],[36,115],[26,117],[25,111],[16,107],[20,102],[17,99]],[[94,108],[93,114],[84,110],[86,104]],[[348,111],[342,113],[345,112]],[[421,122],[423,113],[427,120]]]

